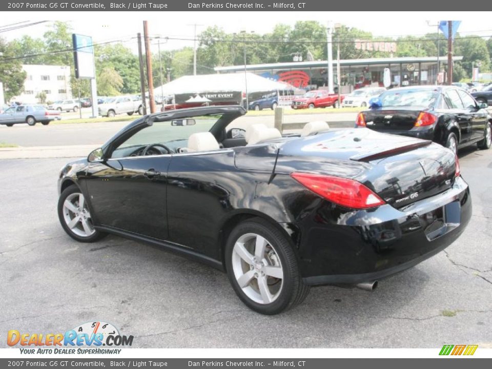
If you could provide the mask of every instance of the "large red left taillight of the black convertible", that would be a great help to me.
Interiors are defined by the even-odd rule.
[[[385,203],[373,191],[353,179],[311,173],[292,173],[291,177],[321,197],[346,208],[367,209]]]

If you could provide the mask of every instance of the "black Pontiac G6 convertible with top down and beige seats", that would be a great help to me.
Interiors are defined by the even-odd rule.
[[[242,107],[155,113],[122,129],[58,180],[72,238],[112,233],[226,271],[263,314],[316,284],[377,281],[463,232],[471,197],[455,154],[431,141],[307,124],[282,137],[231,128]]]

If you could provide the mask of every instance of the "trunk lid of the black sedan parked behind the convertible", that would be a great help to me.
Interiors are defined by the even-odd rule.
[[[362,112],[367,128],[376,131],[408,131],[414,128],[422,108],[384,108]]]

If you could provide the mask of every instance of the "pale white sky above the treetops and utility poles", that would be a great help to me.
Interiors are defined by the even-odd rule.
[[[23,20],[64,20],[70,22],[75,33],[92,36],[94,43],[120,39],[136,52],[137,42],[131,37],[135,37],[137,32],[143,33],[144,19],[149,21],[151,35],[193,38],[194,24],[199,25],[197,33],[216,25],[231,33],[254,31],[263,34],[271,32],[276,24],[294,25],[298,20],[317,20],[323,24],[331,20],[372,32],[375,36],[418,36],[435,32],[437,22],[444,19],[461,20],[459,32],[462,35],[492,36],[491,18],[492,12],[13,12],[9,13],[7,21],[0,21],[0,27]],[[15,31],[0,31],[0,36],[9,40],[23,34],[40,36],[47,25],[49,23]],[[166,43],[163,40],[160,44],[161,50],[183,46],[193,46],[193,42],[169,40]],[[157,45],[152,48],[157,48]]]

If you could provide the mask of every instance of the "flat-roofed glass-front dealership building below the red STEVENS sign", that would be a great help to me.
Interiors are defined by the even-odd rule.
[[[454,56],[453,61],[462,60]],[[253,72],[310,90],[327,86],[327,61],[294,61],[288,63],[255,64],[214,68],[217,73]],[[350,93],[364,86],[383,86],[384,70],[391,73],[391,86],[419,86],[443,83],[447,57],[387,57],[340,60],[340,92]],[[334,85],[338,84],[337,61],[333,60]]]

